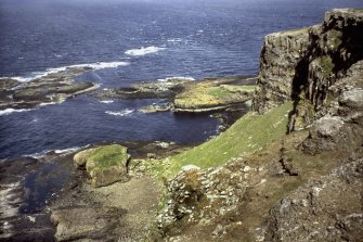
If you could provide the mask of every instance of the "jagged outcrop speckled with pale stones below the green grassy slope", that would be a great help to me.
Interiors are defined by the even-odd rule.
[[[244,169],[248,171],[250,168]],[[183,167],[169,182],[171,195],[158,216],[158,228],[169,235],[178,234],[185,225],[198,224],[208,228],[217,218],[235,212],[246,191],[245,170],[233,173],[229,167],[216,170],[202,170],[193,165]]]

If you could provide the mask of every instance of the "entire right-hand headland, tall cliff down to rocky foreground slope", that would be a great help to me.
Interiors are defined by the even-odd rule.
[[[277,127],[269,117],[293,103],[285,133],[248,150],[258,131],[238,120],[171,160],[189,165],[168,182],[156,238],[362,241],[363,10],[332,10],[322,25],[268,35],[260,59],[254,110]]]

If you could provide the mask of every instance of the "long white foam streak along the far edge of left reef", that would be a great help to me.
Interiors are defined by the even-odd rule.
[[[102,69],[102,68],[115,68],[115,67],[118,67],[118,66],[127,66],[129,64],[130,64],[129,62],[96,62],[96,63],[90,63],[90,64],[77,64],[77,65],[68,65],[68,66],[62,66],[62,67],[56,67],[56,68],[48,68],[44,72],[31,73],[27,77],[15,76],[15,77],[0,77],[0,78],[1,79],[2,78],[11,78],[11,79],[18,80],[21,82],[26,82],[26,81],[30,81],[30,80],[34,80],[34,79],[37,79],[37,78],[44,77],[44,76],[50,75],[50,74],[64,72],[67,68],[72,68],[72,67],[90,67],[92,69]]]

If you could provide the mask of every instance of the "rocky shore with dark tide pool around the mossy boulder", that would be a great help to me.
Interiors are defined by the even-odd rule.
[[[140,158],[160,158],[187,149],[160,141],[122,145],[133,157],[130,169]],[[75,168],[77,152],[48,152],[0,163],[1,241],[115,241],[119,234],[138,241],[145,237],[158,205],[159,184],[139,169],[127,183],[92,188],[87,173]],[[130,192],[133,195],[125,198]]]

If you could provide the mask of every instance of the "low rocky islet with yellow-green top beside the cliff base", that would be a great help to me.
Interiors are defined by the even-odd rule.
[[[131,87],[108,88],[94,91],[92,97],[100,100],[109,99],[165,99],[167,103],[150,105],[141,112],[184,112],[202,113],[242,110],[245,102],[251,100],[255,86],[254,77],[230,76],[223,78],[205,78],[194,81],[189,78],[167,78],[153,82],[139,82]]]

